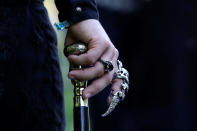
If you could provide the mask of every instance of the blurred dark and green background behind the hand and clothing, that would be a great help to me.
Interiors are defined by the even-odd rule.
[[[197,131],[197,1],[97,0],[100,21],[130,72],[126,100],[108,117],[109,88],[90,101],[93,131]],[[53,0],[46,0],[52,23]],[[73,130],[73,88],[63,43],[58,49],[65,84],[67,131]]]

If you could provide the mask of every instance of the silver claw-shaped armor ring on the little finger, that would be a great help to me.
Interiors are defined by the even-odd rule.
[[[112,94],[111,96],[111,103],[107,111],[102,114],[102,117],[109,115],[116,106],[120,103],[120,101],[124,100],[125,93],[129,90],[129,72],[123,68],[122,62],[118,60],[118,70],[114,73],[113,79],[122,79],[123,82],[121,83],[121,91],[117,91],[116,93]]]

